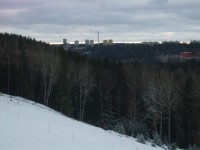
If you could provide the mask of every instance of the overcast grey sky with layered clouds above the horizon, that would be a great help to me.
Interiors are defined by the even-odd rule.
[[[0,32],[48,43],[200,40],[200,0],[0,0]]]

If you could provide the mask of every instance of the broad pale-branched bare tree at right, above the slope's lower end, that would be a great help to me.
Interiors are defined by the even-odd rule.
[[[174,82],[171,74],[160,72],[159,77],[150,82],[143,95],[147,104],[148,117],[152,118],[156,124],[160,121],[160,138],[162,138],[162,124],[164,116],[168,120],[168,141],[171,142],[171,115],[172,110],[180,104],[180,89]]]

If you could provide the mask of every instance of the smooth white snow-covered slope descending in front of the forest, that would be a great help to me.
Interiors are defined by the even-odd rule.
[[[0,94],[1,150],[159,150],[78,122],[35,102]]]

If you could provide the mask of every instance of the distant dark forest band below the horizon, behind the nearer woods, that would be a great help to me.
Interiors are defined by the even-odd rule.
[[[85,52],[98,59],[116,59],[125,62],[152,63],[158,62],[165,56],[179,55],[180,52],[191,52],[193,55],[200,52],[200,43],[163,43],[163,44],[123,44],[104,46],[88,46]]]

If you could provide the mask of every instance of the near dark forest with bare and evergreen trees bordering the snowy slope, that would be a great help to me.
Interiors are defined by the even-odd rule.
[[[157,145],[199,144],[199,85],[196,60],[122,63],[0,34],[1,92]]]

